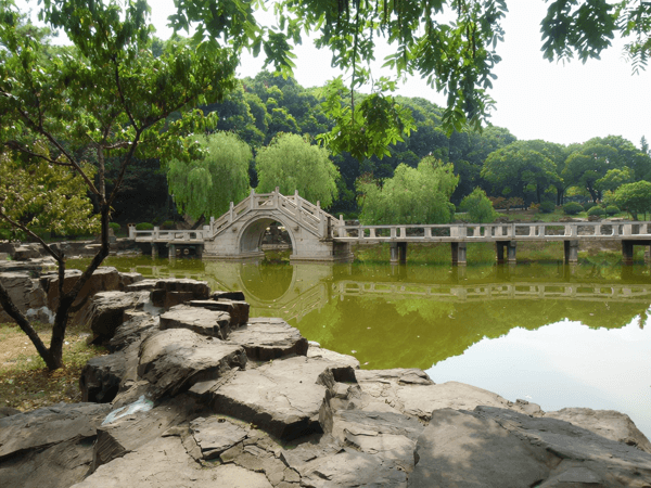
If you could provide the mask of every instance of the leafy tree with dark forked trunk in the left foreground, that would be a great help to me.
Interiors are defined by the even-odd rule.
[[[214,123],[192,108],[222,98],[234,87],[237,59],[216,42],[192,49],[170,43],[154,54],[149,15],[143,0],[44,0],[41,18],[62,29],[73,43],[50,50],[23,28],[12,0],[0,2],[0,152],[9,153],[23,169],[36,168],[40,176],[50,166],[75,174],[93,196],[101,224],[98,254],[72,287],[64,290],[64,253],[21,227],[11,210],[0,210],[1,219],[38,240],[59,267],[60,298],[50,347],[0,284],[0,304],[51,370],[62,367],[71,306],[108,255],[111,208],[125,175],[137,159],[162,154],[183,159],[197,154],[201,147],[186,136]],[[177,114],[175,119],[168,118],[170,114]],[[108,157],[115,158],[118,168],[110,191]],[[94,164],[92,171],[89,159]]]

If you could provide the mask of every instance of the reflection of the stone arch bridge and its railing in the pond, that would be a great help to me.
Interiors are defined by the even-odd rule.
[[[312,310],[346,297],[391,297],[396,299],[422,298],[449,303],[487,300],[575,300],[651,304],[650,283],[598,283],[512,281],[497,277],[474,283],[418,283],[405,281],[355,280],[350,267],[295,264],[269,266],[256,262],[205,262],[201,270],[175,269],[174,266],[139,266],[131,271],[145,277],[190,278],[207,281],[213,290],[241,290],[251,304],[252,313],[279,317],[285,321],[301,321]],[[490,282],[490,280],[495,280]]]

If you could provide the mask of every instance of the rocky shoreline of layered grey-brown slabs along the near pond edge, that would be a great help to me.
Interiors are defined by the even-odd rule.
[[[0,280],[50,310],[56,277],[25,265]],[[77,308],[111,354],[82,403],[0,419],[0,486],[651,488],[627,415],[361,370],[238,292],[101,268]]]

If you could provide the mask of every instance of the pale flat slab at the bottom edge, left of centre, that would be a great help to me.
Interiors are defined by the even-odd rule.
[[[155,439],[100,466],[74,488],[271,488],[266,476],[233,464],[201,467],[180,437]]]

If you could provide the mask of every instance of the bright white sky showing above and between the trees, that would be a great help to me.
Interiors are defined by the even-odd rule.
[[[18,3],[24,5],[25,0]],[[35,0],[29,5],[37,9]],[[174,13],[173,0],[151,0],[150,5],[157,35],[168,37],[171,30],[166,24]],[[563,144],[609,134],[623,136],[636,146],[642,136],[651,140],[651,72],[631,74],[630,64],[622,57],[622,40],[613,42],[601,60],[549,63],[542,60],[539,33],[546,2],[510,1],[509,9],[503,21],[505,42],[498,46],[502,61],[495,69],[498,79],[490,91],[497,102],[494,125],[508,128],[519,139]],[[330,52],[317,50],[309,39],[304,39],[295,52],[294,74],[304,87],[321,86],[341,74],[331,68]],[[263,62],[261,57],[244,55],[238,74],[255,76]],[[379,69],[373,69],[373,75],[379,77]],[[419,77],[409,79],[399,93],[445,104],[444,95]]]

